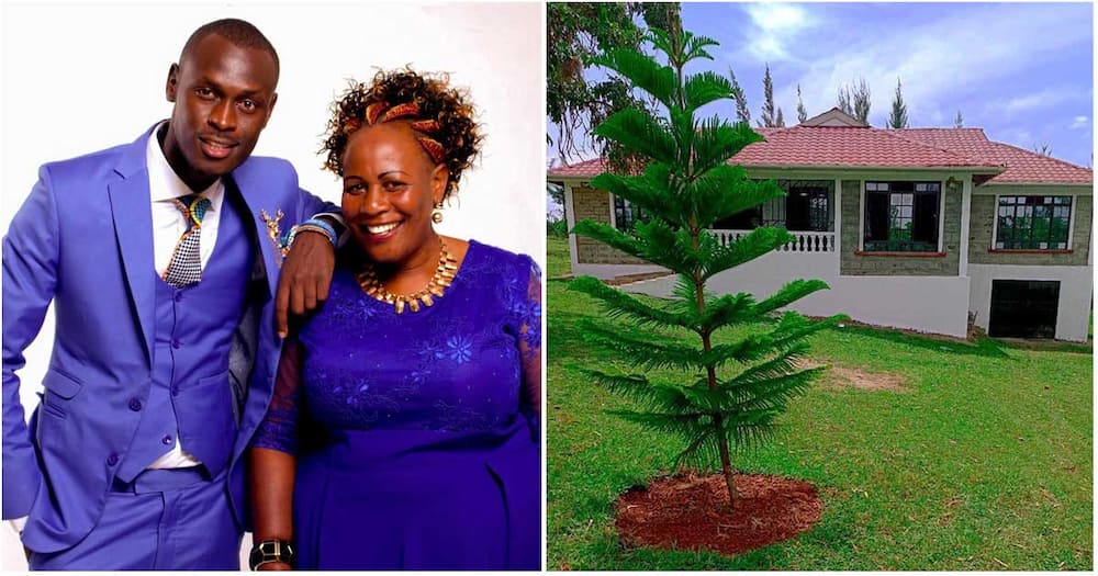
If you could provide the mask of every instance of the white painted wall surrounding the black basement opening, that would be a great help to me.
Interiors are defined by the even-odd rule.
[[[1056,339],[1087,341],[1093,267],[968,264],[968,274],[972,278],[968,306],[976,313],[976,326],[987,329],[991,316],[993,280],[1060,281]]]

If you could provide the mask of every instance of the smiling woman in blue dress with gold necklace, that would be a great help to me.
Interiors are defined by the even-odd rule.
[[[253,565],[539,569],[540,273],[433,226],[480,147],[472,106],[400,70],[333,111],[355,241],[253,442]]]

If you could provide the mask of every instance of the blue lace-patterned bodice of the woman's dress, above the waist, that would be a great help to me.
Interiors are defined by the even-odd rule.
[[[414,315],[397,316],[337,269],[299,336],[301,391],[276,393],[256,445],[296,450],[287,437],[301,405],[325,432],[484,431],[525,418],[538,437],[540,293],[529,257],[474,241],[446,295]]]

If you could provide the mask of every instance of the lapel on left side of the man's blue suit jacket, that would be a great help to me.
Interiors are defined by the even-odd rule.
[[[153,255],[153,210],[148,190],[145,149],[152,131],[137,138],[115,167],[122,177],[108,184],[114,236],[122,253],[130,294],[145,338],[145,353],[152,361],[156,314],[156,260]]]

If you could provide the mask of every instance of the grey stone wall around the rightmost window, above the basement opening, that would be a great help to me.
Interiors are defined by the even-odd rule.
[[[1090,250],[1090,222],[1094,196],[1075,196],[1072,215],[1075,229],[1072,233],[1071,252],[993,252],[995,246],[995,214],[997,199],[994,195],[972,196],[972,223],[968,226],[968,261],[974,264],[1018,264],[1018,266],[1087,266]]]

